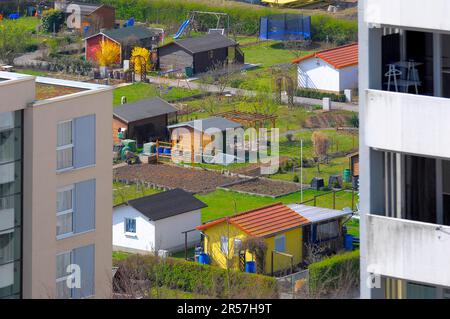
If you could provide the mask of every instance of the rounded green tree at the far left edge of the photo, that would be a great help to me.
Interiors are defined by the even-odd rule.
[[[16,23],[0,23],[0,60],[12,64],[14,58],[25,51],[30,33]]]

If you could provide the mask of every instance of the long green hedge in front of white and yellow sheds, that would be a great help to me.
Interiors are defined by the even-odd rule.
[[[199,263],[161,258],[153,255],[132,255],[118,261],[121,267],[131,267],[133,273],[145,271],[146,279],[152,285],[183,290],[214,298],[274,298],[277,296],[275,278],[230,271],[230,289],[228,289],[225,269],[201,265]],[[139,269],[138,271],[136,271]],[[120,271],[120,270],[119,270]]]

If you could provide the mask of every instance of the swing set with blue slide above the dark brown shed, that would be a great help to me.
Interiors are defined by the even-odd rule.
[[[189,36],[192,30],[200,29],[201,16],[215,17],[217,19],[214,28],[208,28],[208,33],[210,32],[220,32],[222,35],[227,35],[230,31],[230,16],[223,12],[206,12],[206,11],[191,11],[189,12],[186,20],[183,21],[177,33],[173,38],[179,39],[184,33]],[[209,22],[209,21],[208,21]]]

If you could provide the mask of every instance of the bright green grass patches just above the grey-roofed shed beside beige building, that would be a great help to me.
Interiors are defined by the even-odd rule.
[[[179,98],[191,96],[200,93],[198,90],[187,90],[183,88],[172,88],[167,94],[164,94],[162,97],[165,100],[176,100]],[[127,102],[135,102],[145,98],[151,98],[159,95],[159,89],[152,84],[146,83],[135,83],[128,86],[123,86],[116,88],[114,90],[114,105],[120,105],[120,100],[122,96],[127,98]]]

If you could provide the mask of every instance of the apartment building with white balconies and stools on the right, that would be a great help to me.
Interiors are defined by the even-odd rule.
[[[450,298],[448,12],[359,2],[362,298]]]

